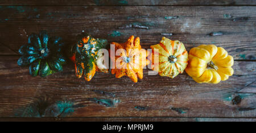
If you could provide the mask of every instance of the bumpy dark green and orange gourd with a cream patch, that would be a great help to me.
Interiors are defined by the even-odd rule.
[[[104,66],[102,63],[104,55],[98,53],[100,49],[106,48],[107,45],[108,41],[105,39],[94,39],[84,32],[77,36],[77,43],[72,45],[70,54],[71,60],[75,63],[76,77],[81,78],[84,74],[85,80],[90,81],[96,71],[109,72],[108,66]]]

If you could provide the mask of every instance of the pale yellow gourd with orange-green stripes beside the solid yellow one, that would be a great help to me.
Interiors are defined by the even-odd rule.
[[[188,52],[183,43],[163,37],[159,44],[151,45],[150,48],[152,49],[152,56],[148,59],[151,60],[152,70],[158,72],[160,76],[171,78],[183,73],[188,64]],[[157,57],[158,61],[155,62],[154,57]]]

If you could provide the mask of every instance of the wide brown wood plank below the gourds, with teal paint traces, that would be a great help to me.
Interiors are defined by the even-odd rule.
[[[148,76],[148,69],[135,84],[108,73],[85,82],[71,64],[62,73],[31,77],[28,68],[16,65],[18,57],[0,58],[0,117],[256,117],[255,88],[249,88],[255,61],[235,61],[234,76],[216,85],[197,84],[185,73]],[[250,91],[241,93],[245,87]],[[44,114],[59,101],[68,101],[70,114]],[[38,110],[43,115],[31,114]]]

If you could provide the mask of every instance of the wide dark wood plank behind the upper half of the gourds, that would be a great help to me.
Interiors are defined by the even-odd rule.
[[[109,41],[139,36],[143,48],[162,36],[182,41],[187,49],[200,44],[224,47],[237,60],[255,60],[256,7],[219,6],[2,6],[0,49],[17,52],[28,35],[40,30],[72,44],[83,30]],[[172,36],[168,34],[172,33]],[[10,55],[1,51],[1,55]],[[15,53],[14,53],[15,54]]]

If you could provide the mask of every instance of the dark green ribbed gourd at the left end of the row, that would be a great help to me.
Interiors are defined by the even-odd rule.
[[[46,77],[63,70],[66,60],[63,56],[64,42],[60,37],[49,37],[46,31],[28,37],[28,44],[22,45],[19,66],[29,65],[32,76]]]

